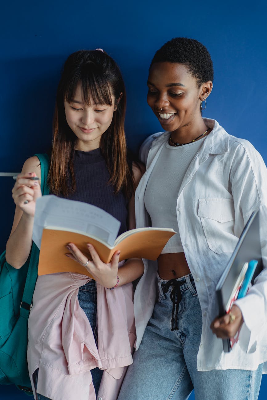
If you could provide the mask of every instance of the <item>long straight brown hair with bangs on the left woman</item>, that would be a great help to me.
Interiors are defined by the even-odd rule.
[[[82,98],[87,106],[112,105],[115,99],[117,110],[108,129],[100,138],[100,150],[110,173],[109,184],[114,193],[120,190],[130,198],[134,183],[127,162],[124,118],[126,109],[125,87],[115,61],[100,50],[80,50],[67,58],[58,90],[53,122],[51,164],[48,173],[50,192],[67,196],[76,190],[73,158],[77,138],[66,121],[64,101],[73,102],[78,84],[82,86]]]

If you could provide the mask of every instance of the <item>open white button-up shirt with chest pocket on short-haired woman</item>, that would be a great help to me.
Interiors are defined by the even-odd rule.
[[[267,361],[267,170],[251,143],[227,134],[215,120],[204,120],[212,131],[192,160],[174,199],[181,241],[202,309],[197,368],[255,370]],[[169,135],[169,132],[152,135],[141,148],[141,160],[147,170],[135,194],[137,228],[149,226],[145,189]],[[224,353],[222,340],[210,328],[218,315],[215,287],[247,220],[257,209],[260,209],[264,268],[247,296],[236,301],[244,324],[239,343],[230,353]],[[145,272],[135,291],[137,348],[157,294],[157,262],[143,261]]]

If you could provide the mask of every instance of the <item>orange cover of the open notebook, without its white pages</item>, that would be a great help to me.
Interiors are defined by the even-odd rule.
[[[90,259],[86,243],[91,243],[103,262],[110,262],[116,250],[120,250],[120,261],[131,257],[142,257],[156,260],[161,250],[175,232],[149,230],[136,232],[122,240],[110,249],[96,239],[76,232],[44,229],[40,248],[38,275],[54,274],[56,272],[78,272],[90,276],[85,267],[78,264],[65,254],[66,245],[70,242]],[[90,276],[91,277],[91,276]]]

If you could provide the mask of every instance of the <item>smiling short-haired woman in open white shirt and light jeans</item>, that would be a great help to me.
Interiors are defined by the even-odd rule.
[[[141,148],[147,170],[135,195],[137,227],[177,234],[156,264],[145,262],[135,291],[138,350],[119,400],[185,400],[193,388],[196,399],[256,399],[267,372],[265,164],[247,140],[202,117],[213,89],[203,44],[187,38],[164,44],[147,85],[147,102],[165,132]],[[258,208],[263,271],[232,306],[232,318],[217,318],[215,286]],[[224,353],[221,338],[239,328],[239,343]]]

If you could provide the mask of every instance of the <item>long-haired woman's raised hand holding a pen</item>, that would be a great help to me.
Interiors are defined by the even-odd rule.
[[[42,196],[40,179],[34,172],[18,174],[17,176],[13,176],[13,179],[16,179],[16,183],[12,189],[12,197],[15,204],[26,214],[33,216],[35,212],[35,200]]]

